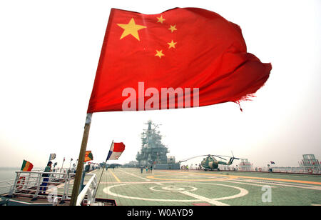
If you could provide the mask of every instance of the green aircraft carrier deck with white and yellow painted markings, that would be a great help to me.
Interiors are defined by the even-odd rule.
[[[98,179],[102,169],[91,172]],[[321,176],[242,171],[103,171],[96,198],[118,206],[317,206]]]

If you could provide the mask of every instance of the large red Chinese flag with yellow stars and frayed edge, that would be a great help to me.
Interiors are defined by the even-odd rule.
[[[205,9],[111,9],[88,113],[238,102],[272,66],[246,51],[238,25]]]

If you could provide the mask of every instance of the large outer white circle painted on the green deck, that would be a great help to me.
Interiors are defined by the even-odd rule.
[[[141,183],[141,184],[146,184],[146,183]],[[225,196],[225,197],[210,199],[210,198],[207,198],[207,197],[204,197],[204,196],[199,196],[199,195],[196,195],[196,194],[192,194],[189,191],[177,191],[176,190],[179,193],[185,194],[187,196],[191,196],[191,197],[193,197],[195,199],[148,199],[148,198],[142,198],[142,197],[136,197],[136,196],[124,196],[124,195],[121,195],[121,194],[115,194],[115,193],[113,193],[111,191],[111,189],[113,187],[127,186],[127,185],[132,185],[132,184],[117,184],[117,185],[114,185],[114,186],[108,186],[108,187],[103,189],[103,192],[105,194],[109,194],[111,196],[116,196],[116,197],[121,197],[121,198],[124,198],[124,199],[137,199],[137,200],[144,200],[144,201],[180,201],[180,202],[207,201],[210,204],[220,205],[220,206],[224,206],[224,205],[226,206],[228,204],[224,204],[223,202],[220,202],[219,200],[235,199],[235,198],[242,197],[242,196],[245,196],[246,194],[248,194],[248,190],[240,188],[238,186],[230,186],[230,185],[224,185],[224,184],[212,184],[212,183],[198,183],[198,184],[210,184],[210,185],[230,187],[230,188],[238,189],[240,191],[240,193],[235,194],[233,196]],[[157,187],[157,186],[154,186],[154,187]],[[158,186],[158,187],[160,187],[160,186]],[[178,186],[175,186],[175,187],[168,186],[167,189],[180,189],[181,187],[182,186],[180,186],[180,187],[178,187]],[[188,187],[192,187],[192,186],[188,186]],[[153,188],[153,187],[151,187],[151,188]],[[164,188],[166,188],[166,187],[163,187],[162,189],[164,189]]]

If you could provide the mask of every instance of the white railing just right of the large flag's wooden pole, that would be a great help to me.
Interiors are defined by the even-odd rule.
[[[87,174],[91,176],[91,179],[87,182],[86,186],[83,187],[81,193],[78,194],[76,206],[81,206],[83,201],[86,201],[86,205],[95,203],[96,191],[97,191],[97,177],[96,174]]]

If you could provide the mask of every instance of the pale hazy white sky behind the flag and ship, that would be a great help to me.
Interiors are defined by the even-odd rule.
[[[255,166],[297,166],[302,154],[321,160],[321,1],[0,1],[0,166],[45,166],[51,153],[58,166],[78,159],[112,7],[215,11],[241,27],[248,52],[272,71],[243,112],[226,103],[93,114],[94,161],[106,159],[112,140],[126,144],[118,162],[135,160],[149,119],[162,124],[177,160],[230,151]]]

